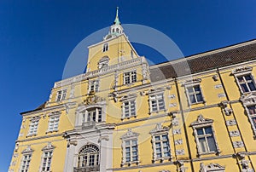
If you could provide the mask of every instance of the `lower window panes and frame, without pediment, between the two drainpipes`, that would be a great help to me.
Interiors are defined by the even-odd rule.
[[[201,152],[217,152],[212,126],[196,129],[196,134]]]

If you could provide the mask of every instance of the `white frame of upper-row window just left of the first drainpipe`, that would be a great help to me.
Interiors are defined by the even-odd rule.
[[[161,98],[158,98],[158,96],[161,96]],[[148,95],[148,100],[149,100],[149,110],[150,113],[152,112],[160,112],[160,111],[166,111],[166,102],[165,102],[165,96],[164,93],[154,93],[154,94],[149,94]],[[160,106],[160,100],[163,101],[163,107]],[[155,106],[156,109],[153,109],[153,101],[155,101]]]

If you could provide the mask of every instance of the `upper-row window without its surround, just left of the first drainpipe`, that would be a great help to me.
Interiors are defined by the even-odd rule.
[[[150,112],[165,110],[164,95],[149,95]]]

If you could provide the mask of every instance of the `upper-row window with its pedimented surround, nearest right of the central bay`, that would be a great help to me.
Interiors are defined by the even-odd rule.
[[[122,119],[137,117],[137,95],[129,94],[121,97],[122,101]]]

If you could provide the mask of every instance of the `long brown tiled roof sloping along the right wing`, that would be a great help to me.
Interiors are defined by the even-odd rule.
[[[256,39],[150,66],[152,82],[256,60]]]

